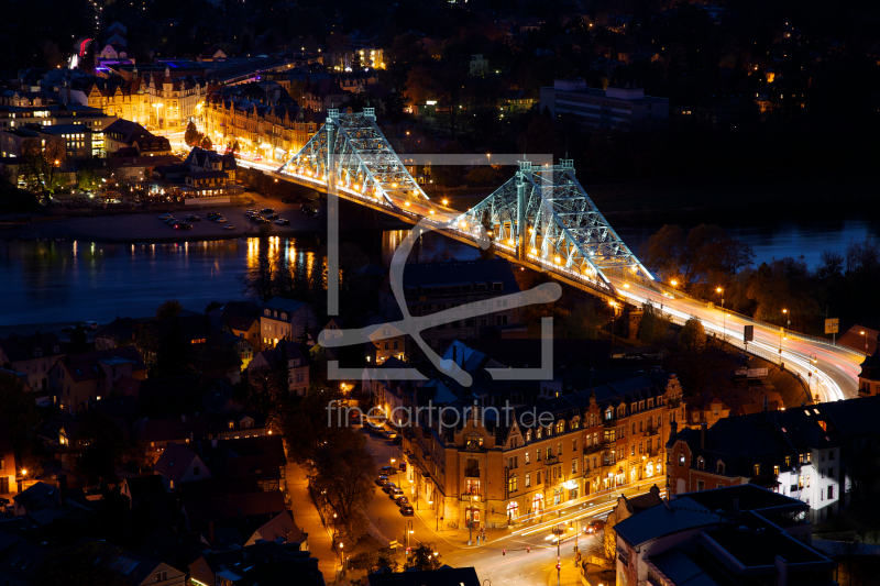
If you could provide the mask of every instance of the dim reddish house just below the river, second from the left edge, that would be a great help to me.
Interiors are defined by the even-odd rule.
[[[75,413],[85,401],[109,396],[123,376],[146,378],[146,365],[134,346],[64,356],[48,372],[52,405]]]

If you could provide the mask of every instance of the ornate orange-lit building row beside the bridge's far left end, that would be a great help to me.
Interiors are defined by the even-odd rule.
[[[212,93],[204,112],[205,132],[215,142],[268,161],[285,162],[315,135],[315,112],[293,102],[266,104]]]

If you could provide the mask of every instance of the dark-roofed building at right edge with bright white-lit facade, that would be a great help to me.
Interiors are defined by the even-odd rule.
[[[880,441],[878,417],[880,398],[871,396],[673,430],[669,490],[756,484],[805,502],[814,521],[828,521],[854,494],[877,490],[869,454]]]

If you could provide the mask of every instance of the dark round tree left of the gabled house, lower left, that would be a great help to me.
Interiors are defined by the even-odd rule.
[[[108,480],[129,452],[125,433],[98,410],[90,410],[70,441],[68,455],[77,475],[89,483]]]

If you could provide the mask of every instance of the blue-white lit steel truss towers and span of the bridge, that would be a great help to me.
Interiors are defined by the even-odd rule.
[[[321,191],[378,207],[417,222],[427,218],[447,234],[475,243],[488,232],[497,251],[616,297],[606,273],[653,279],[624,244],[574,176],[571,161],[516,175],[465,213],[436,206],[409,175],[376,125],[372,108],[329,110],[327,122],[282,165],[277,175]]]

